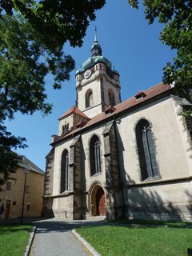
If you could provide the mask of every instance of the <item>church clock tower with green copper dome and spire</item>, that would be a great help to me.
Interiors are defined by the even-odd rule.
[[[77,107],[89,118],[121,102],[119,74],[102,55],[95,36],[91,57],[76,72]]]

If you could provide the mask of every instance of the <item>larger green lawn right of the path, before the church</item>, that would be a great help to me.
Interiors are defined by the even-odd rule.
[[[102,256],[187,256],[192,229],[88,226],[77,232]]]

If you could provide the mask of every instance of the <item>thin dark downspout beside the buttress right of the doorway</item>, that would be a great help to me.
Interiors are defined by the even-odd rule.
[[[120,173],[121,167],[120,167],[120,159],[119,159],[119,148],[118,148],[118,127],[115,119],[115,114],[114,114],[114,138],[115,138],[115,144],[116,144],[116,150],[117,150],[117,163],[118,163],[118,178],[119,178],[119,185],[120,189],[122,192],[122,218],[126,217],[125,214],[125,197],[123,193],[123,182],[122,182],[122,175]]]

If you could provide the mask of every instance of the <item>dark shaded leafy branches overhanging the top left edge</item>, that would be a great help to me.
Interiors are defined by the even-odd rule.
[[[2,0],[0,14],[18,11],[38,32],[50,48],[62,47],[66,41],[71,46],[82,46],[87,26],[106,0]]]

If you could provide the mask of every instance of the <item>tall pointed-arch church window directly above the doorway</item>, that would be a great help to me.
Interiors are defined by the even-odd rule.
[[[101,173],[100,141],[94,135],[90,139],[90,175]]]

